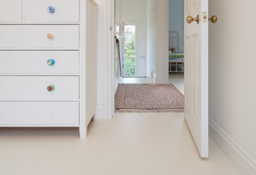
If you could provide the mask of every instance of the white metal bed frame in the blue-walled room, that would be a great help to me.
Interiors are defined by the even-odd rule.
[[[169,32],[168,48],[170,51],[171,48],[174,48],[174,50],[177,50],[179,51],[179,53],[183,54],[183,57],[180,58],[181,61],[178,61],[178,55],[176,56],[175,59],[176,62],[172,62],[172,57],[170,57],[170,59],[168,58],[169,72],[184,72],[184,38],[179,37],[179,32]],[[172,65],[174,65],[175,69],[172,69]]]

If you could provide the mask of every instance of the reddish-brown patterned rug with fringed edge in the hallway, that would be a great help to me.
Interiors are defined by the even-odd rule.
[[[119,84],[116,112],[184,112],[184,96],[172,84]]]

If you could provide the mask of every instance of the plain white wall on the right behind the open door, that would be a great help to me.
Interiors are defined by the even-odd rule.
[[[232,4],[230,6],[230,4]],[[256,1],[210,0],[209,116],[256,165]],[[245,173],[243,173],[245,174]],[[247,173],[246,173],[247,174]]]

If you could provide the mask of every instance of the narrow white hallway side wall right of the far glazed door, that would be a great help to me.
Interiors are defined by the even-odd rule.
[[[147,1],[147,76],[156,73],[156,0]]]

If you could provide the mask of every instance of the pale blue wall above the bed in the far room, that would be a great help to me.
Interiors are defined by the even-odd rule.
[[[184,0],[169,0],[169,31],[183,37]]]

